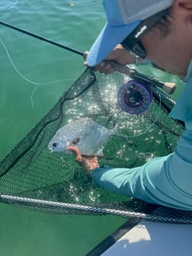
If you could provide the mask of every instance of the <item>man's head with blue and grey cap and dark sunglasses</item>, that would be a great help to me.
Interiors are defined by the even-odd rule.
[[[122,43],[184,78],[192,59],[191,0],[104,0],[104,9],[107,24],[88,54],[89,66],[96,66]]]

